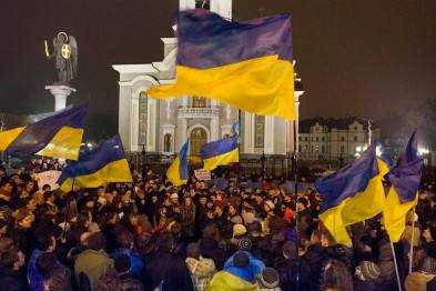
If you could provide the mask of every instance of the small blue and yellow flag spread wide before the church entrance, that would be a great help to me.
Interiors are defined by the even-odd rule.
[[[200,155],[203,160],[203,169],[212,171],[219,165],[225,165],[240,161],[237,136],[212,141],[203,146]]]

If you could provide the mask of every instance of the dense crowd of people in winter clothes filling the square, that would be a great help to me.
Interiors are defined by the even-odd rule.
[[[36,181],[53,167],[0,168],[0,291],[397,290],[381,217],[352,225],[353,248],[336,244],[314,189],[231,172],[174,188],[148,170],[62,193]],[[395,244],[407,291],[436,290],[434,189],[423,182]]]

